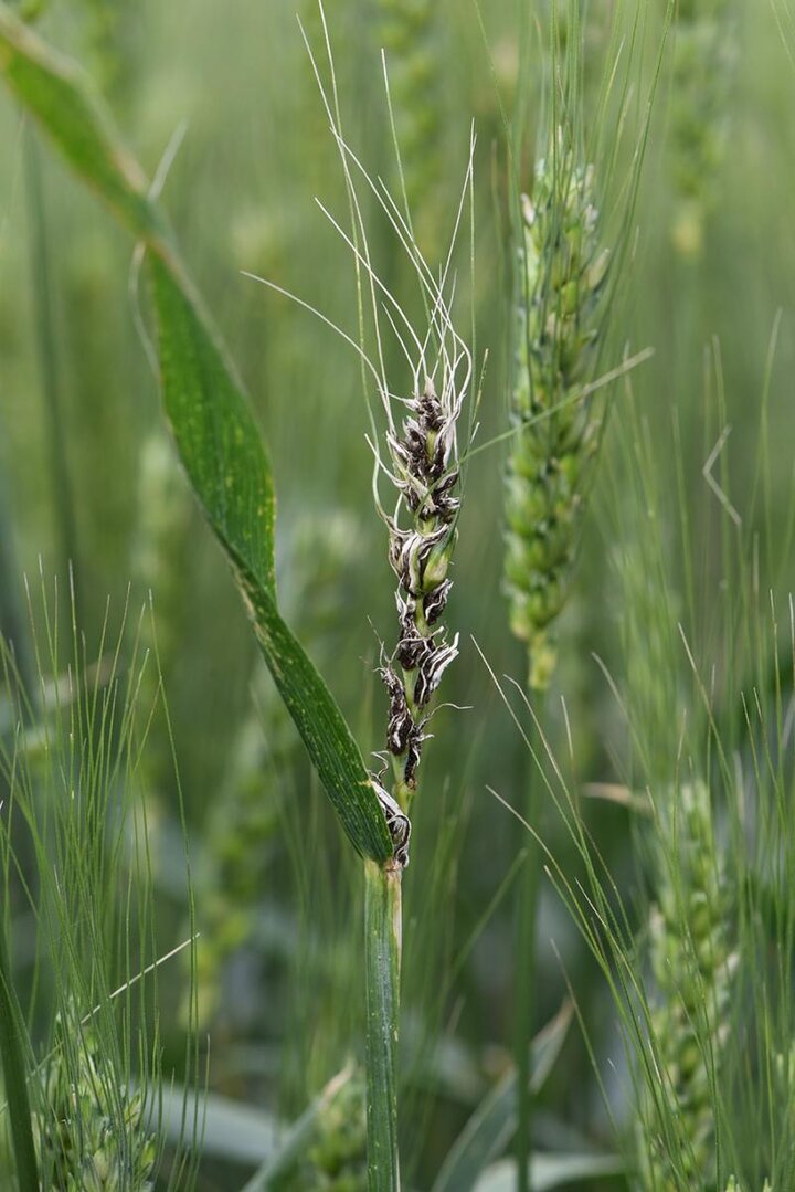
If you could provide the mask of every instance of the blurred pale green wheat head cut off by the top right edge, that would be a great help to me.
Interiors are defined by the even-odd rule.
[[[737,45],[733,0],[679,0],[673,24],[670,137],[676,203],[671,237],[684,256],[703,246],[720,198]]]

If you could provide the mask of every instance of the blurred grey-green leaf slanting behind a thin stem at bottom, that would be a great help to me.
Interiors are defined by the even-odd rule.
[[[534,1093],[542,1088],[560,1054],[571,1016],[571,1005],[566,1002],[533,1041],[530,1088]],[[433,1192],[470,1192],[478,1186],[483,1172],[516,1132],[517,1100],[516,1072],[511,1069],[486,1093],[453,1143]]]

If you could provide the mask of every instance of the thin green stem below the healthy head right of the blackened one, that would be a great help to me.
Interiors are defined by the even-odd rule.
[[[535,762],[532,763],[535,766]],[[524,817],[533,827],[538,825],[541,808],[541,787],[530,772]],[[520,882],[520,902],[516,923],[516,997],[514,1051],[516,1062],[516,1190],[532,1192],[530,1154],[533,1134],[533,1088],[530,1085],[530,1051],[536,1005],[535,935],[541,874],[541,850],[530,837]]]

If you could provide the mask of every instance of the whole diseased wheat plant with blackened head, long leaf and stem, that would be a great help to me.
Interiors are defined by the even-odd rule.
[[[76,68],[52,57],[44,44],[24,30],[10,12],[0,12],[0,18],[7,81],[43,120],[48,132],[79,173],[93,182],[120,221],[133,230],[149,250],[159,318],[163,401],[182,462],[216,535],[226,551],[257,641],[281,697],[304,738],[343,827],[355,849],[367,858],[365,935],[368,1172],[371,1187],[397,1188],[399,894],[402,869],[408,863],[410,821],[406,811],[365,770],[350,731],[331,695],[278,611],[273,575],[273,483],[269,464],[246,392],[179,261],[170,232],[157,206],[157,188],[150,188],[137,164],[123,155],[110,118],[91,94]],[[336,83],[334,87],[336,93]],[[64,97],[68,98],[66,107]],[[352,212],[360,219],[348,166],[349,150],[342,139],[339,118],[335,120],[335,110],[328,101],[327,111],[342,153]],[[64,112],[68,113],[67,118]],[[464,195],[470,179],[471,164]],[[369,185],[373,187],[372,182]],[[389,195],[381,198],[381,204],[393,221],[396,234],[400,238],[406,237],[406,225],[399,212],[392,213],[397,209]],[[364,255],[356,248],[360,234]],[[355,223],[355,240],[350,243],[356,262],[365,266],[366,285],[373,296],[373,312],[378,321],[374,296],[375,286],[380,283],[369,263],[364,234],[361,222]],[[409,409],[420,417],[406,420],[404,440],[395,433],[386,375],[379,374],[373,365],[369,368],[384,401],[389,424],[387,443],[398,473],[398,507],[389,519],[389,524],[392,535],[391,558],[404,589],[402,664],[406,675],[404,702],[411,725],[403,734],[399,749],[395,747],[398,743],[395,732],[391,732],[391,747],[397,758],[405,755],[402,791],[409,791],[415,786],[422,745],[424,721],[421,716],[445,666],[455,652],[454,646],[436,640],[439,631],[431,631],[430,626],[440,615],[449,590],[447,567],[458,509],[449,491],[456,478],[451,462],[455,458],[455,423],[470,384],[471,367],[468,353],[453,331],[445,300],[447,272],[442,274],[441,284],[435,283],[410,234],[404,243],[431,312],[430,325],[423,340],[412,330],[399,308],[396,308],[398,317],[405,324],[404,333],[408,330],[418,349],[414,371],[415,391],[409,398]],[[403,343],[397,329],[396,334],[398,342]],[[377,337],[380,342],[378,322]],[[430,367],[426,362],[426,352],[430,350],[428,344],[434,346],[439,360]],[[367,362],[364,352],[362,360]],[[379,360],[383,366],[383,356]],[[436,398],[433,387],[436,375],[440,398]],[[218,429],[219,418],[226,427],[223,434]],[[377,455],[377,467],[379,466]],[[397,520],[400,502],[405,503],[415,519],[408,532]],[[395,694],[391,695],[392,726],[396,709]]]

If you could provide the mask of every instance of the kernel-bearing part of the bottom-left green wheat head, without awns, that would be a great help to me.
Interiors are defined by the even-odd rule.
[[[66,1032],[69,1032],[69,1038]],[[33,1115],[43,1187],[63,1192],[151,1192],[155,1141],[139,1093],[118,1086],[91,1026],[58,1016]]]

